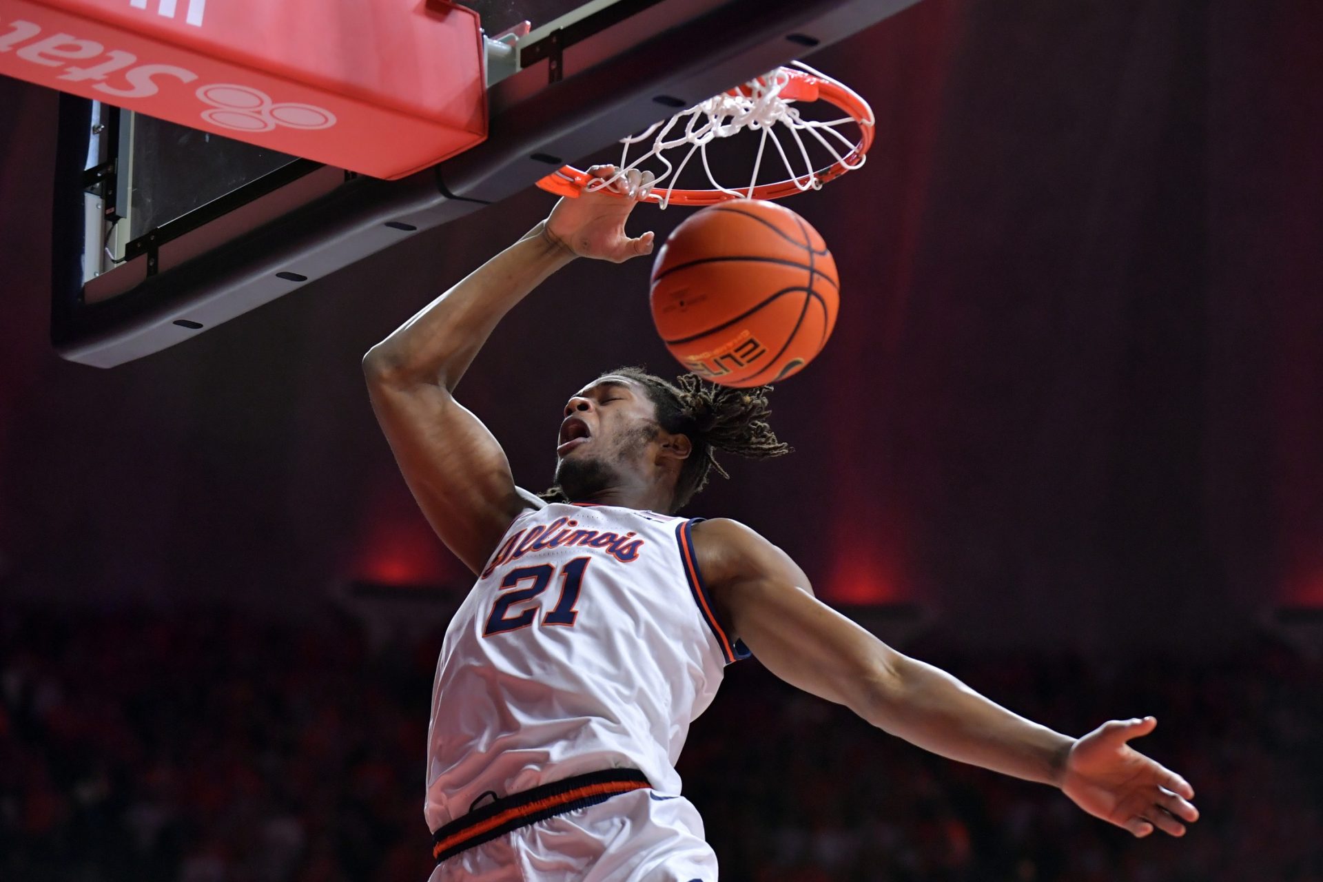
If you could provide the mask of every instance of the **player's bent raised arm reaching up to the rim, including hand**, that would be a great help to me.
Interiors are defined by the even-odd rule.
[[[496,323],[552,272],[576,257],[622,262],[652,250],[651,233],[624,234],[634,205],[603,192],[561,200],[524,238],[364,356],[373,411],[410,491],[437,534],[475,573],[509,522],[541,501],[515,487],[504,451],[455,401],[455,385]]]

